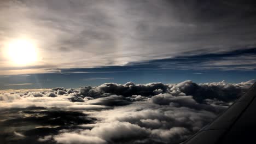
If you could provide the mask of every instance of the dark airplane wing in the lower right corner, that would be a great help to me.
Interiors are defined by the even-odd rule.
[[[211,124],[183,144],[256,143],[256,83]]]

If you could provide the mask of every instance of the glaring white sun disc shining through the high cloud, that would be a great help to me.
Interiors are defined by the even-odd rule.
[[[35,46],[28,40],[14,40],[8,44],[7,55],[17,65],[27,65],[37,61]]]

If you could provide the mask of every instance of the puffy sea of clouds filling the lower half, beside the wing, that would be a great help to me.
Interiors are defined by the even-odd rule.
[[[253,82],[4,90],[0,138],[7,134],[35,143],[180,143],[213,121]],[[30,126],[19,129],[24,124]]]

